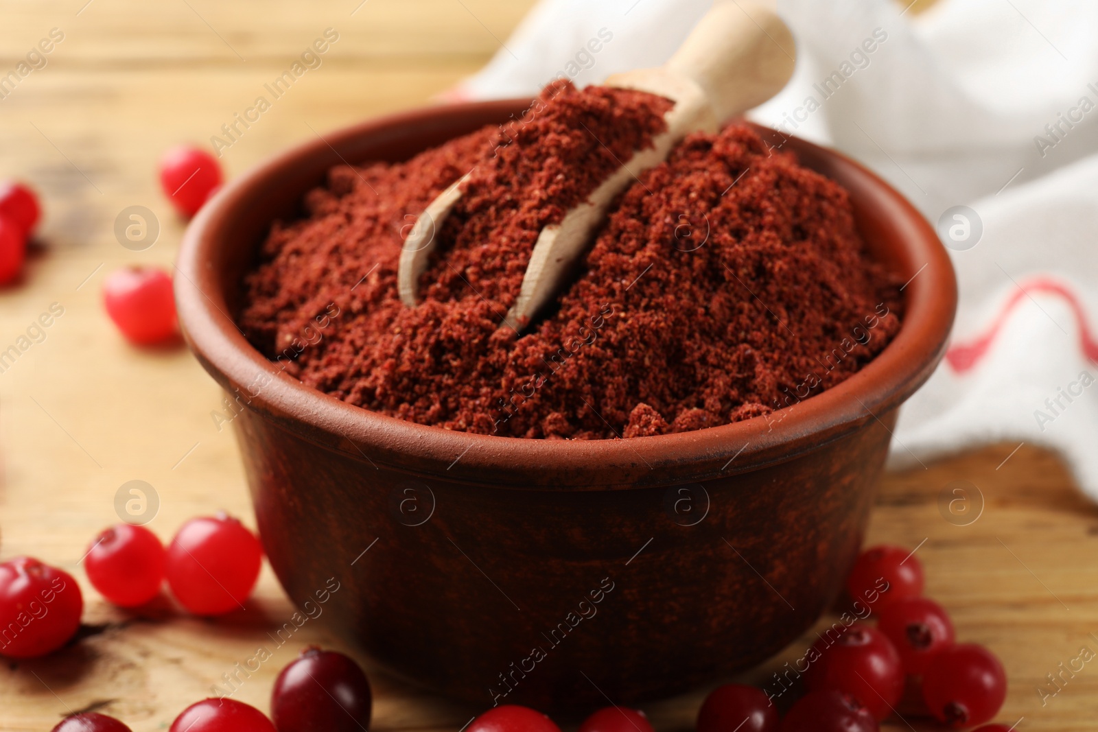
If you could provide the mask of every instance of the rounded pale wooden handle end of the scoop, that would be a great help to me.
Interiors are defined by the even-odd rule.
[[[796,44],[759,0],[714,0],[664,68],[705,91],[718,122],[766,101],[793,76]]]

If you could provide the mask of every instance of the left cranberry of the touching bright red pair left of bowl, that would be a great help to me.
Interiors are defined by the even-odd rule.
[[[143,526],[107,529],[83,560],[88,579],[114,605],[132,608],[156,597],[164,583],[164,544]]]

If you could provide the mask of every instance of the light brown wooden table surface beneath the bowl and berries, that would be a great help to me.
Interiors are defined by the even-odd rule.
[[[155,487],[160,508],[149,526],[165,539],[216,508],[250,515],[234,438],[211,418],[221,402],[213,381],[180,347],[127,346],[100,306],[102,279],[113,268],[169,266],[175,257],[182,224],[158,192],[158,155],[181,140],[206,144],[327,27],[339,41],[323,65],[224,151],[229,176],[316,133],[423,103],[481,66],[530,3],[0,2],[0,74],[51,29],[64,33],[47,65],[0,101],[0,174],[31,181],[46,209],[25,281],[0,291],[0,350],[52,303],[65,311],[44,340],[0,373],[0,559],[32,554],[60,565],[87,598],[79,643],[0,666],[0,730],[48,730],[82,709],[121,717],[136,732],[163,730],[266,642],[292,608],[265,570],[246,611],[199,620],[165,600],[131,615],[104,604],[78,566],[98,530],[117,520],[115,493],[126,481]],[[115,216],[131,205],[150,209],[161,226],[143,251],[123,248],[113,233]],[[1028,446],[1011,454],[1015,447],[886,476],[870,540],[920,547],[928,592],[953,613],[961,638],[1001,656],[1011,684],[1002,720],[1024,717],[1020,730],[1093,730],[1098,666],[1086,665],[1044,703],[1038,688],[1082,646],[1098,650],[1090,635],[1098,633],[1098,562],[1090,554],[1098,551],[1098,511],[1054,457]],[[946,521],[938,505],[942,488],[959,480],[986,499],[968,526]],[[764,679],[810,639],[747,678]],[[295,641],[338,646],[312,623]],[[236,698],[266,709],[293,653],[279,650]],[[379,732],[457,732],[479,711],[380,673],[372,680]],[[699,699],[648,711],[660,732],[688,730]],[[932,729],[909,721],[885,729]]]

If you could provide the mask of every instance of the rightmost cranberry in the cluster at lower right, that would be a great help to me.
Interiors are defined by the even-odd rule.
[[[939,722],[983,724],[1007,698],[1007,673],[995,655],[975,643],[939,651],[922,677],[922,698]]]

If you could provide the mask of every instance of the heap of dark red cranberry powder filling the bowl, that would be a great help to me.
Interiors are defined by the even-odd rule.
[[[310,386],[447,429],[595,439],[780,419],[876,356],[900,299],[847,193],[742,125],[642,173],[559,306],[523,335],[501,327],[541,227],[650,145],[669,106],[560,83],[503,127],[334,168],[307,218],[272,227],[240,327]],[[407,308],[403,236],[470,170]]]

